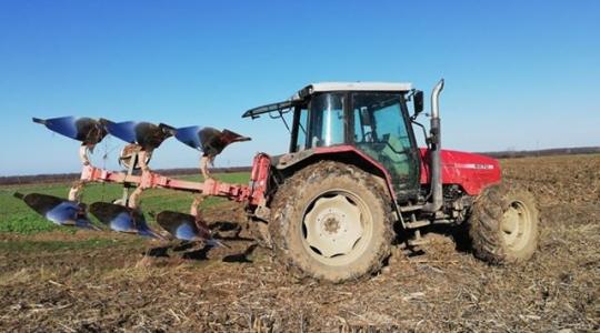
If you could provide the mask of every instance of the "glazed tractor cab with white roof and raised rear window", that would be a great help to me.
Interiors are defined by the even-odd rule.
[[[422,93],[410,83],[314,83],[289,101],[249,110],[244,117],[269,112],[284,119],[284,113],[291,112],[290,153],[356,147],[387,170],[402,200],[418,194],[420,176],[409,99],[416,102],[414,111],[420,111]]]

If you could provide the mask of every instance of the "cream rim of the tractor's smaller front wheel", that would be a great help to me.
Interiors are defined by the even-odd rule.
[[[531,236],[531,212],[520,201],[510,204],[502,216],[502,236],[504,243],[512,251],[527,245]]]

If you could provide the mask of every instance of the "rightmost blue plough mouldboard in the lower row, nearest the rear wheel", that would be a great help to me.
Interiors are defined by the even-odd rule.
[[[194,215],[162,211],[157,214],[157,223],[178,240],[203,241],[212,246],[227,246],[222,242],[214,240],[208,226],[201,221],[197,222]]]

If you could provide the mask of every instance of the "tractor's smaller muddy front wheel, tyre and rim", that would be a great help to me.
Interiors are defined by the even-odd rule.
[[[538,215],[529,191],[502,184],[484,189],[469,221],[476,256],[497,264],[530,259],[538,245]]]

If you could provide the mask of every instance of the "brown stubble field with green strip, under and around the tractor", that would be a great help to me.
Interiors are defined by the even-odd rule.
[[[247,239],[240,205],[204,202],[231,249],[164,244],[111,232],[64,231],[11,198],[64,195],[68,185],[0,192],[0,331],[598,331],[600,157],[502,160],[529,188],[540,246],[518,266],[474,259],[451,233],[418,253],[394,251],[381,274],[331,285],[297,281]],[[246,182],[246,174],[219,175]],[[84,200],[118,198],[96,185]],[[186,194],[152,190],[144,211],[186,211]],[[241,228],[238,235],[237,230]],[[458,249],[457,249],[458,248]]]

